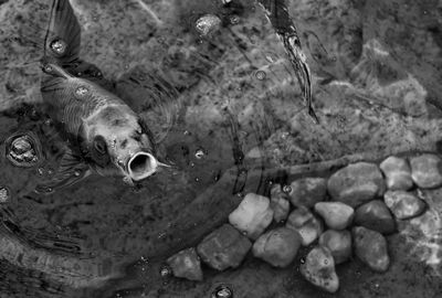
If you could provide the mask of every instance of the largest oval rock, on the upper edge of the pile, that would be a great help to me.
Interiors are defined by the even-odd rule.
[[[336,171],[327,183],[336,201],[356,207],[386,191],[386,183],[378,166],[369,162],[349,164]]]

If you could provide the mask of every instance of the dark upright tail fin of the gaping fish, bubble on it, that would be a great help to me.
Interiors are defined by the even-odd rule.
[[[78,61],[81,29],[69,0],[54,0],[46,34],[44,61],[69,67]]]

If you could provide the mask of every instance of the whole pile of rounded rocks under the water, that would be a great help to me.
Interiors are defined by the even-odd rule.
[[[417,188],[442,185],[441,164],[435,155],[389,157],[379,166],[349,164],[328,179],[274,184],[270,199],[249,193],[230,214],[229,224],[206,236],[197,249],[170,257],[168,264],[175,276],[201,280],[197,254],[218,270],[240,266],[250,251],[271,266],[286,267],[301,246],[313,245],[299,272],[313,285],[335,292],[339,288],[335,265],[350,259],[352,252],[373,272],[388,269],[385,235],[425,211]]]

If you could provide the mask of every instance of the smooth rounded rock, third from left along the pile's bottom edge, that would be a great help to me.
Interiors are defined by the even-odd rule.
[[[301,236],[287,227],[277,227],[261,235],[253,244],[253,255],[272,266],[286,267],[295,258]]]

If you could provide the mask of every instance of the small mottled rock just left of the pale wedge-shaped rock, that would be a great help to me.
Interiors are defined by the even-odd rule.
[[[287,228],[292,228],[299,233],[301,243],[304,246],[311,245],[323,233],[323,223],[305,206],[294,210],[285,224]]]

